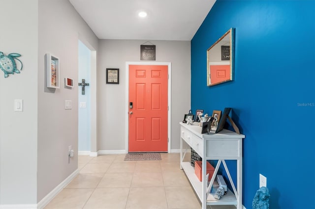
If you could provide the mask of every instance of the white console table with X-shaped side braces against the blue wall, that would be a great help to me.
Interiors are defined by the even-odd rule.
[[[236,205],[237,209],[242,209],[242,143],[245,135],[238,134],[229,130],[222,130],[215,133],[215,130],[209,134],[201,134],[200,126],[190,126],[184,123],[181,125],[181,169],[184,169],[193,189],[202,203],[202,209],[207,205]],[[202,157],[202,182],[198,180],[194,173],[194,167],[190,161],[184,161],[184,157],[189,153],[190,147]],[[206,161],[218,160],[214,175],[207,187],[206,181]],[[237,160],[237,186],[232,181],[225,160]],[[227,194],[218,200],[214,198],[218,183],[215,181],[220,164],[223,164],[228,179],[232,185],[233,192]],[[212,192],[209,193],[213,186]]]

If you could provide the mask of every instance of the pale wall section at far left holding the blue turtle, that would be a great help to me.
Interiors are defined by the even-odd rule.
[[[22,54],[20,74],[0,71],[0,204],[36,204],[37,0],[1,0],[0,51]],[[23,112],[14,112],[14,99]]]

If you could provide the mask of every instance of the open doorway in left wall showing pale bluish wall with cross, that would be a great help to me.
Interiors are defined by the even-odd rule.
[[[97,156],[96,139],[96,51],[84,39],[78,40],[78,155]]]

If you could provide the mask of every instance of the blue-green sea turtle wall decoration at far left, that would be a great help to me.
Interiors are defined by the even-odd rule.
[[[0,68],[4,72],[4,78],[7,78],[9,74],[20,73],[23,68],[23,64],[21,60],[16,57],[21,56],[19,53],[9,53],[8,55],[4,55],[3,52],[0,52]],[[21,69],[16,68],[15,60],[19,60],[21,63]]]

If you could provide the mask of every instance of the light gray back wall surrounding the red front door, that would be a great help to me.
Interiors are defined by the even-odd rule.
[[[100,40],[97,69],[98,150],[125,150],[126,61],[140,61],[140,45],[147,40]],[[180,148],[179,122],[190,108],[190,42],[150,41],[156,61],[172,64],[171,149]],[[120,69],[120,84],[106,84],[106,68]],[[115,114],[114,114],[115,113]]]

